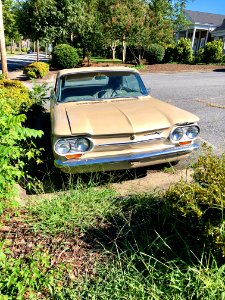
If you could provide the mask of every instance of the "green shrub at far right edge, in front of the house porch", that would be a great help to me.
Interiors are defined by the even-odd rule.
[[[221,63],[223,58],[223,42],[221,40],[207,43],[204,47],[203,62]]]

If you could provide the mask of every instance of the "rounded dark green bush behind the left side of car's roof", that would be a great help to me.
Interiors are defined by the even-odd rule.
[[[77,50],[70,45],[61,44],[52,51],[52,65],[57,69],[74,68],[79,63]]]

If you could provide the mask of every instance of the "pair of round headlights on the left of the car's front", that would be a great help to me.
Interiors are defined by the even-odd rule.
[[[60,139],[55,143],[55,151],[59,155],[83,153],[90,150],[92,142],[83,137]]]

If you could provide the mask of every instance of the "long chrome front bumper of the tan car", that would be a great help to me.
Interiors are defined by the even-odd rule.
[[[58,168],[79,168],[79,167],[95,167],[97,165],[117,164],[117,163],[132,163],[141,162],[143,160],[157,160],[157,159],[169,159],[176,158],[185,154],[189,154],[193,150],[197,150],[199,144],[191,144],[188,146],[172,147],[165,150],[153,151],[153,152],[142,152],[132,153],[127,155],[108,156],[100,158],[88,158],[88,159],[77,159],[77,160],[55,160],[55,166]]]

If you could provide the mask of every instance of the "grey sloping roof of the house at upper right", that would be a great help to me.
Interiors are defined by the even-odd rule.
[[[211,14],[200,11],[185,10],[184,13],[192,23],[219,26],[225,19],[225,15]]]

